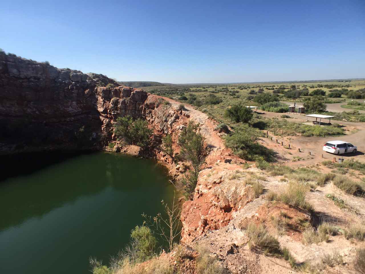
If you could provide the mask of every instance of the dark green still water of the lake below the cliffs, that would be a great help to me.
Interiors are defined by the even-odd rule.
[[[162,212],[174,186],[153,160],[97,152],[3,158],[0,273],[90,273],[107,264],[141,225]]]

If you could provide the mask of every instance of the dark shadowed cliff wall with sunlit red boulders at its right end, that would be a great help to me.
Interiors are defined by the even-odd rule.
[[[0,53],[0,154],[101,148],[114,119],[140,117],[147,98],[117,86],[104,75]]]

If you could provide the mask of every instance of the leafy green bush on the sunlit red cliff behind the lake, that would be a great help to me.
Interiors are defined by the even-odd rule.
[[[146,148],[149,145],[152,130],[148,128],[148,123],[141,118],[133,121],[132,117],[119,117],[115,123],[115,135],[124,138],[133,145]]]

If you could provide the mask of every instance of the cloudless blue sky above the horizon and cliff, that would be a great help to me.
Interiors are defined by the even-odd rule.
[[[5,52],[123,81],[365,77],[365,0],[8,0],[0,26]]]

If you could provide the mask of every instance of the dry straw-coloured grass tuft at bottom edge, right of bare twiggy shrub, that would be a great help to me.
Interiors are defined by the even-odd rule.
[[[224,267],[220,264],[218,258],[211,256],[210,251],[205,246],[197,246],[199,257],[196,262],[196,272],[198,274],[224,274]]]

